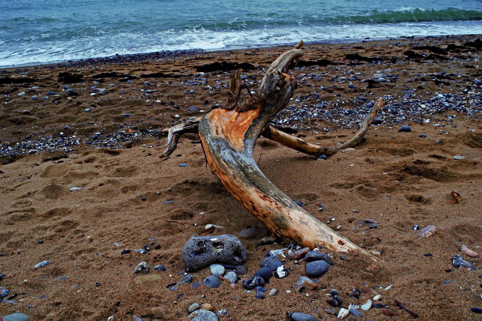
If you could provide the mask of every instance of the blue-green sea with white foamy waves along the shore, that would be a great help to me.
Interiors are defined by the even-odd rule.
[[[482,33],[481,0],[0,0],[0,66],[177,49]]]

